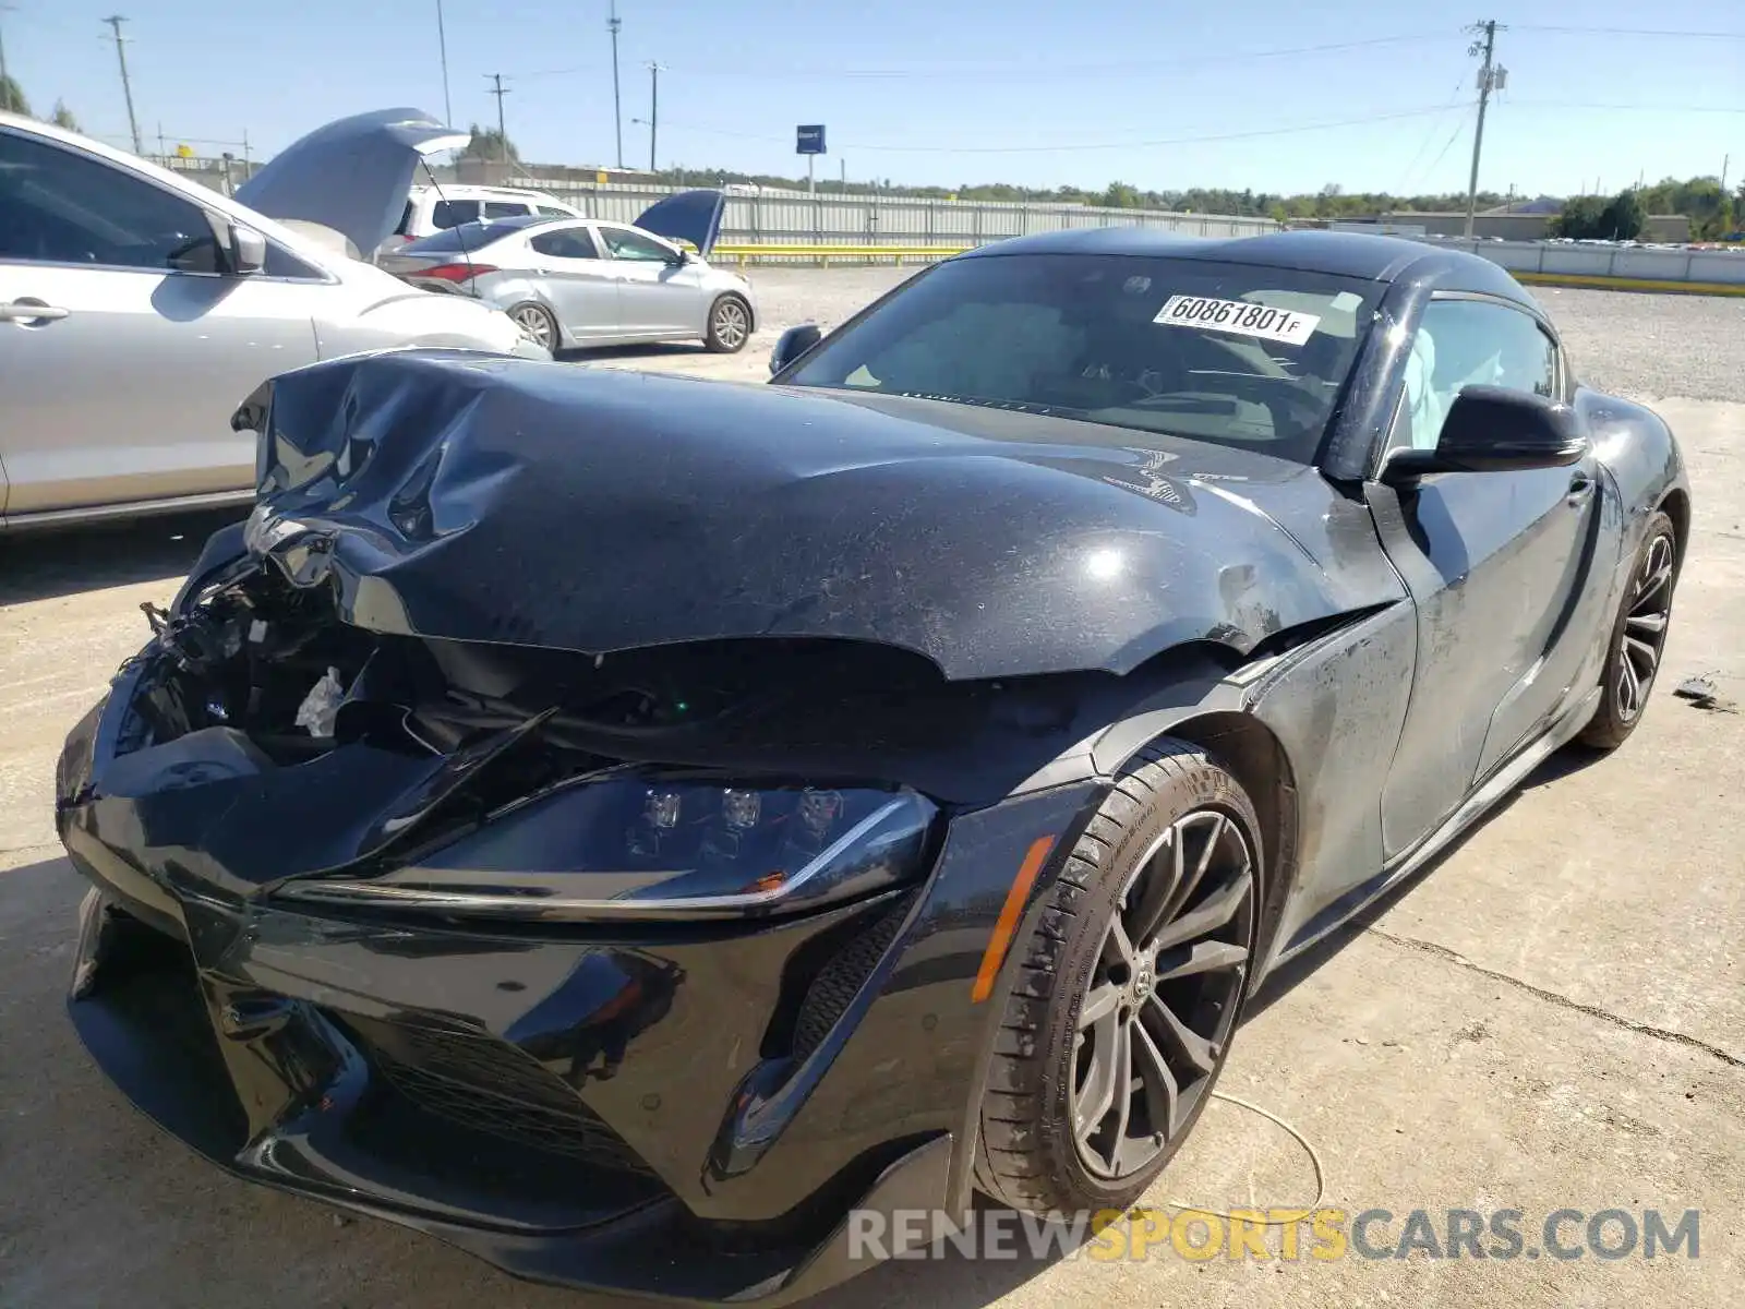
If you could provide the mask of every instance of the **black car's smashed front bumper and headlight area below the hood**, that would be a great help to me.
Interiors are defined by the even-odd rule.
[[[117,1086],[574,1286],[785,1302],[857,1271],[852,1208],[967,1201],[989,927],[1094,792],[1016,782],[1094,696],[370,630],[323,539],[215,538],[68,738],[70,1011]]]

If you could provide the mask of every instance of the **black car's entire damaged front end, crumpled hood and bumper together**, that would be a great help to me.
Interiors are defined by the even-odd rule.
[[[223,1168],[574,1286],[787,1302],[852,1210],[960,1211],[1096,742],[1373,599],[777,389],[410,351],[237,424],[250,522],[59,763],[73,1023]]]

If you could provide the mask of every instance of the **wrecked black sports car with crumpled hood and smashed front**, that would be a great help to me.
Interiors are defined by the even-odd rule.
[[[258,504],[58,777],[73,1023],[159,1124],[794,1300],[852,1210],[1133,1201],[1269,972],[1642,716],[1677,445],[1485,260],[1026,237],[777,365],[243,407]]]

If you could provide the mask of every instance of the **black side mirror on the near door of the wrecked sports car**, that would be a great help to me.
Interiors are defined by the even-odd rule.
[[[1569,468],[1588,452],[1576,410],[1546,396],[1501,386],[1466,386],[1454,398],[1434,450],[1394,450],[1382,482],[1427,473],[1513,473]]]

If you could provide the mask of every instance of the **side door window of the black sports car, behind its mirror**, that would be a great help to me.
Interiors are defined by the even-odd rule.
[[[1394,445],[1433,450],[1464,386],[1557,394],[1557,346],[1527,312],[1488,300],[1431,300],[1406,356]]]

